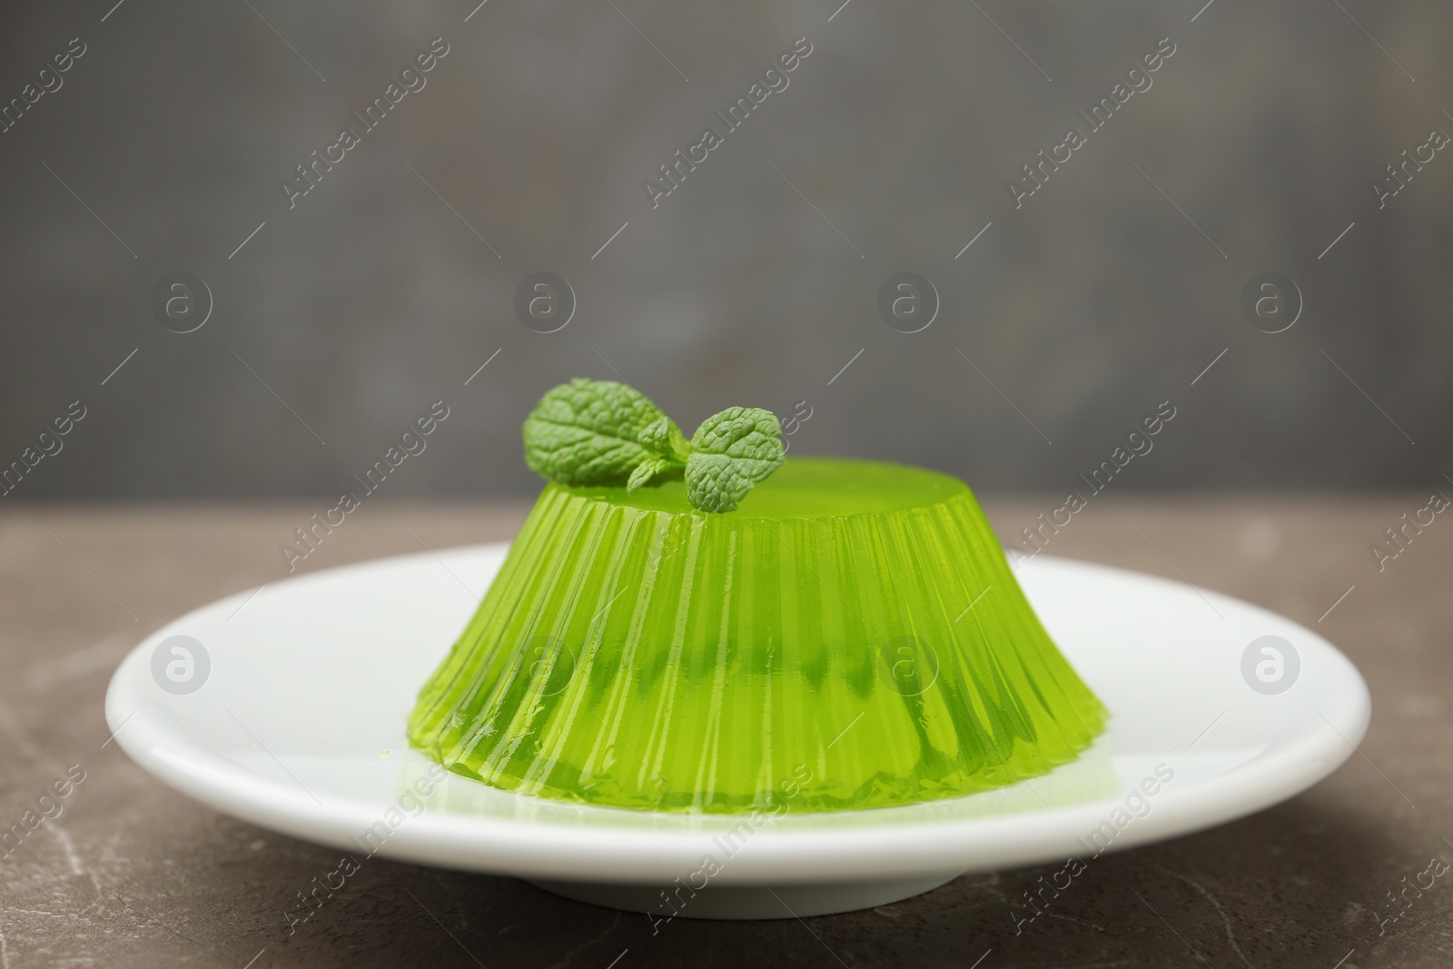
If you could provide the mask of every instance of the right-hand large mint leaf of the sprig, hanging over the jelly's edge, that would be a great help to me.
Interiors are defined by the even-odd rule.
[[[702,421],[686,459],[686,497],[703,511],[735,511],[753,485],[786,461],[782,424],[758,407],[728,407]]]

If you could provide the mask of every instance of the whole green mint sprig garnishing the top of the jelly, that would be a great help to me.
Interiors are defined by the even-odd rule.
[[[635,388],[575,378],[552,388],[525,420],[525,463],[567,485],[635,491],[681,475],[703,511],[734,511],[786,461],[782,424],[758,407],[728,407],[690,440]]]

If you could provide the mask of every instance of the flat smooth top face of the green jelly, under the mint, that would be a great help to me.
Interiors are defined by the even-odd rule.
[[[709,514],[692,507],[686,500],[686,484],[680,479],[647,485],[629,494],[625,488],[552,487],[628,508]],[[757,484],[737,504],[737,510],[725,513],[725,517],[818,519],[882,514],[936,504],[966,491],[968,485],[958,478],[927,468],[849,458],[788,458],[782,468]]]

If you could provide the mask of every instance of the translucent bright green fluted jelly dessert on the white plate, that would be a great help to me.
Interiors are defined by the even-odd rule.
[[[680,463],[545,487],[414,747],[520,795],[745,814],[1013,784],[1103,731],[958,478],[779,455],[715,513]]]

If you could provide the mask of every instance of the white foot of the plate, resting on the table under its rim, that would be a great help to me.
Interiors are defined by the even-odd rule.
[[[606,885],[600,882],[548,882],[529,879],[535,888],[577,902],[651,915],[681,918],[798,918],[831,915],[901,902],[931,892],[959,877],[892,879],[885,882],[828,882],[821,885],[708,885],[693,892],[686,885]],[[667,902],[670,899],[670,904]]]

